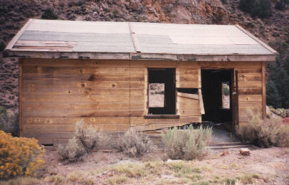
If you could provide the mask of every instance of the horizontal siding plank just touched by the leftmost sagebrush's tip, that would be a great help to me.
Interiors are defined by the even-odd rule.
[[[51,115],[53,116],[53,115]],[[64,125],[75,124],[83,119],[90,125],[98,124],[130,124],[130,117],[23,117],[24,125]]]

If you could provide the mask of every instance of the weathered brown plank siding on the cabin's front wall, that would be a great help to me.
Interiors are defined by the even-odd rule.
[[[176,68],[177,88],[201,88],[201,68],[238,70],[239,121],[246,108],[262,115],[261,62],[22,59],[20,123],[25,137],[66,142],[76,120],[106,132],[154,130],[201,122],[199,100],[177,97],[179,119],[145,119],[147,68]]]

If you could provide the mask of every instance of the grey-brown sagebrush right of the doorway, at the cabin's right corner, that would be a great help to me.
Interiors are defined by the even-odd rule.
[[[283,125],[280,117],[261,120],[251,110],[247,112],[248,123],[236,129],[241,140],[252,142],[258,147],[289,147],[289,127]]]

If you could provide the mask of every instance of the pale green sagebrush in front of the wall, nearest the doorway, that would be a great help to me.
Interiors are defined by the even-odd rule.
[[[191,160],[201,158],[207,152],[207,144],[211,141],[211,128],[169,129],[162,135],[164,151],[171,159]]]

